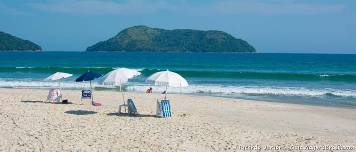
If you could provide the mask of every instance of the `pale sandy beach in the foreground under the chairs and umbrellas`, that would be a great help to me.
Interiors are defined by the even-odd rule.
[[[48,90],[0,88],[0,151],[312,151],[355,146],[356,109],[168,94],[173,117],[156,118],[164,94],[125,93],[137,117],[118,115],[122,94],[63,90],[70,104],[45,103]],[[236,145],[236,149],[233,149]],[[241,147],[261,146],[244,150]],[[281,149],[264,149],[282,146]],[[323,149],[315,151],[355,151]]]

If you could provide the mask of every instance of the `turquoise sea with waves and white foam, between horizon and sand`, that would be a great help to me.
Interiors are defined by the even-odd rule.
[[[0,87],[56,87],[43,79],[60,71],[74,74],[61,80],[62,88],[88,89],[88,82],[74,80],[87,70],[118,67],[142,73],[125,84],[127,92],[145,92],[149,75],[169,69],[190,86],[168,93],[356,107],[356,54],[0,52]],[[95,90],[118,89],[96,82]]]

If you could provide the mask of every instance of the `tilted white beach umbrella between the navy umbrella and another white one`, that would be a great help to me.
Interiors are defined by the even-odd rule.
[[[120,91],[123,93],[123,100],[125,104],[125,98],[124,98],[124,91],[122,89],[122,84],[127,83],[128,79],[131,79],[137,75],[140,75],[141,73],[129,69],[129,68],[117,68],[115,70],[110,71],[109,73],[105,74],[103,78],[99,81],[99,85],[104,85],[104,86],[118,86],[120,85]],[[126,112],[126,108],[125,108]]]

